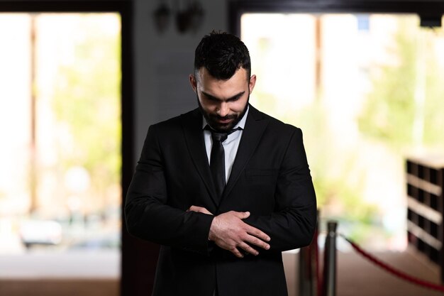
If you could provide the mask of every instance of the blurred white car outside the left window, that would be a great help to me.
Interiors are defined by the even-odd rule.
[[[62,241],[62,226],[56,221],[27,220],[20,226],[20,237],[26,248],[57,245]]]

